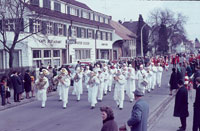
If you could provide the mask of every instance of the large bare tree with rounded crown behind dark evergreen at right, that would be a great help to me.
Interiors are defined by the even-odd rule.
[[[177,41],[183,41],[186,38],[184,28],[186,20],[187,18],[181,13],[176,14],[169,9],[155,9],[150,12],[148,23],[152,26],[152,30],[149,39],[154,43],[155,49],[157,50],[159,46],[156,43],[159,43],[158,35],[161,25],[166,26],[168,42],[174,46],[177,44]]]

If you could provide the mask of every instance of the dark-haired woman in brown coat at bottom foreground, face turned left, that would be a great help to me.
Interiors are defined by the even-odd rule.
[[[101,131],[118,131],[117,123],[114,121],[114,113],[110,107],[101,107],[100,108],[103,127]]]

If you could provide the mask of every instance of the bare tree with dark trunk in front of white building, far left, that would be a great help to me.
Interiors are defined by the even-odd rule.
[[[30,22],[25,23],[25,18],[34,16],[34,20],[37,20],[41,17],[40,14],[35,14],[28,9],[28,3],[30,2],[27,0],[0,0],[0,44],[9,54],[10,68],[13,67],[16,45],[41,31],[24,33],[30,26]]]

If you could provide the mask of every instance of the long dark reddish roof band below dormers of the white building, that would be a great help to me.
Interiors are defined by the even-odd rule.
[[[47,8],[41,8],[41,7],[34,6],[34,5],[26,4],[26,6],[31,11],[35,11],[38,14],[42,14],[42,15],[46,15],[46,16],[50,16],[50,17],[54,17],[54,18],[59,18],[59,19],[63,19],[63,20],[69,20],[69,21],[72,21],[72,23],[78,22],[78,23],[83,23],[83,24],[113,29],[109,24],[105,24],[105,23],[101,23],[101,22],[97,22],[97,21],[93,21],[93,20],[89,20],[89,19],[85,19],[85,18],[80,18],[78,16],[64,14],[64,13],[61,13],[61,12],[58,12],[58,11],[50,10],[50,9],[47,9]]]

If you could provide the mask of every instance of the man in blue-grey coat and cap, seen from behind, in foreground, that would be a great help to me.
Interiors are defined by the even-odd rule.
[[[147,131],[147,119],[149,116],[149,104],[142,99],[144,93],[136,90],[134,92],[136,103],[133,106],[131,118],[127,121],[131,131]]]

